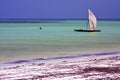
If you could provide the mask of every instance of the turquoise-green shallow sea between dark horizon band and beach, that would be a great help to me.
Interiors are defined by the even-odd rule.
[[[120,49],[120,21],[98,21],[102,32],[82,33],[84,20],[0,23],[0,59],[97,53]],[[40,30],[39,28],[42,27]]]

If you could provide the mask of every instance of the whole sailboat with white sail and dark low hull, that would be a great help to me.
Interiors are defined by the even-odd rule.
[[[93,14],[93,12],[88,9],[88,25],[86,27],[86,30],[83,29],[74,29],[74,31],[77,32],[101,32],[101,30],[96,30],[97,26],[97,19],[96,16]]]

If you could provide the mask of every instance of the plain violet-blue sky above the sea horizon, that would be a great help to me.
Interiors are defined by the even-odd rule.
[[[0,19],[120,19],[120,0],[0,0]]]

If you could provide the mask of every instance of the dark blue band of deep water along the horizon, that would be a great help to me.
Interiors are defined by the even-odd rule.
[[[35,18],[4,18],[0,19],[0,23],[53,23],[57,21],[67,20],[88,20],[88,19],[35,19]],[[120,19],[97,19],[98,21],[120,21]]]

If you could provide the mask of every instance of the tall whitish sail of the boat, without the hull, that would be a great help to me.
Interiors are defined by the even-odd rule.
[[[97,19],[90,9],[88,9],[88,16],[89,16],[89,29],[95,30],[97,25]]]

